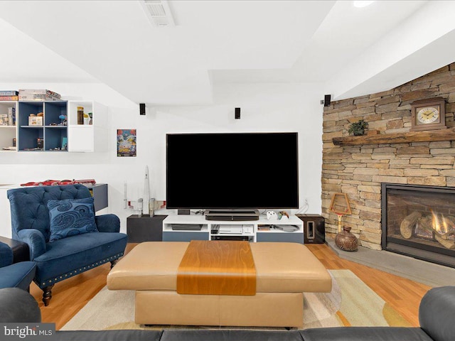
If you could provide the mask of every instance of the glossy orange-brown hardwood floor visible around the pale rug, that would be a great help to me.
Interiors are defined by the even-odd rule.
[[[127,252],[137,244],[128,244]],[[429,286],[410,281],[407,278],[387,274],[384,271],[341,259],[326,244],[307,245],[327,269],[348,269],[375,291],[385,302],[395,308],[410,325],[419,326],[419,303]],[[32,283],[30,293],[41,308],[43,323],[55,323],[60,329],[98,291],[106,285],[110,264],[98,266],[63,282],[55,284],[50,304],[45,307],[41,301],[42,291]]]

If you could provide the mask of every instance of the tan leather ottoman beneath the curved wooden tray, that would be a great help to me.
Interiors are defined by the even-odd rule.
[[[298,243],[251,243],[255,296],[181,295],[177,269],[188,242],[144,242],[107,276],[109,290],[136,291],[144,325],[303,326],[304,292],[329,292],[326,268]]]

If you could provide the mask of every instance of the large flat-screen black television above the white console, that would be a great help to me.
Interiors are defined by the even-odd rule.
[[[299,207],[297,133],[167,134],[166,207]]]

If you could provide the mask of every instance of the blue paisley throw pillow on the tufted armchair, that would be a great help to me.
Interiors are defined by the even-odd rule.
[[[65,237],[98,232],[93,198],[49,200],[50,238],[54,242]]]

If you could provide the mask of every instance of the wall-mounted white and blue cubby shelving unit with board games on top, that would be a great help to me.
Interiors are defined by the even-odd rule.
[[[77,107],[83,107],[91,120],[77,124]],[[107,107],[92,101],[0,101],[0,114],[16,112],[15,125],[0,125],[0,151],[14,146],[16,151],[93,152],[107,151]],[[41,114],[42,113],[42,114]],[[28,121],[30,114],[41,114],[40,124]],[[67,117],[67,124],[61,124]],[[41,123],[42,122],[42,123]],[[89,124],[90,123],[90,124]]]

